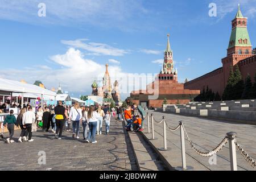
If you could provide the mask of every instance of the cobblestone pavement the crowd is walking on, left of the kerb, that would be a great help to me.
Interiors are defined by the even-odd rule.
[[[105,127],[103,126],[103,131]],[[80,131],[82,129],[80,128]],[[110,134],[96,135],[98,143],[85,143],[72,139],[72,133],[64,131],[63,139],[54,139],[53,133],[33,133],[34,142],[17,143],[20,130],[14,134],[15,143],[0,139],[0,170],[137,170],[127,133],[123,124],[112,121]],[[5,137],[9,134],[5,133]],[[38,164],[39,151],[46,152],[46,164]]]

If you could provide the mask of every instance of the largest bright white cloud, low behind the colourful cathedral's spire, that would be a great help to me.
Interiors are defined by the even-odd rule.
[[[26,80],[33,84],[35,80],[41,80],[48,89],[56,88],[59,83],[63,90],[69,93],[90,94],[92,92],[92,82],[102,80],[105,73],[105,65],[98,64],[96,61],[85,59],[79,49],[69,48],[64,54],[53,55],[49,61],[59,65],[57,69],[4,69],[0,77],[11,80]],[[48,68],[48,67],[43,67]],[[119,82],[119,90],[122,96],[129,94],[132,90],[145,89],[146,85],[152,81],[155,75],[140,73],[126,73],[115,65],[109,66],[109,73],[112,84],[115,80]],[[139,79],[142,79],[139,80]],[[127,81],[129,80],[129,81]],[[134,80],[137,80],[134,82]]]

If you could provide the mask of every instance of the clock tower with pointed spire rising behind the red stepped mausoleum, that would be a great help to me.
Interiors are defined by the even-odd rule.
[[[164,51],[164,63],[159,74],[159,80],[177,81],[177,69],[174,70],[173,54],[170,46],[170,35],[167,35],[167,48]]]

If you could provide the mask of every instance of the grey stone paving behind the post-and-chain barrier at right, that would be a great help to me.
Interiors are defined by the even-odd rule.
[[[226,133],[234,131],[237,133],[237,143],[255,160],[256,159],[256,126],[216,119],[198,118],[179,114],[167,114],[156,111],[149,111],[154,114],[156,121],[160,121],[162,116],[166,117],[166,122],[171,128],[175,128],[179,121],[183,121],[185,129],[192,142],[201,151],[212,150],[226,136]],[[146,119],[147,120],[147,119]],[[151,124],[151,123],[150,123]],[[150,126],[151,127],[151,126]],[[163,124],[155,123],[156,147],[163,147]],[[147,132],[147,121],[145,130]],[[151,134],[146,134],[151,138]],[[181,149],[180,149],[180,130],[172,132],[167,129],[167,146],[170,151],[164,151],[163,154],[171,161],[173,167],[181,166]],[[209,164],[209,158],[200,156],[192,150],[188,141],[185,141],[187,165],[192,166],[195,170],[230,170],[229,143],[217,153],[216,163]],[[242,158],[237,151],[238,170],[256,170]]]

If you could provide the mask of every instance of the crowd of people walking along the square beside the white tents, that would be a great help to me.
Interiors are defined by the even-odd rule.
[[[0,107],[0,113],[9,113],[1,123],[3,138],[3,127],[9,131],[7,143],[13,143],[15,127],[21,129],[18,142],[33,142],[32,133],[38,129],[43,132],[54,133],[55,139],[62,139],[63,131],[70,132],[72,125],[72,138],[79,139],[80,126],[82,126],[82,137],[86,142],[97,143],[96,135],[102,134],[102,126],[105,123],[105,134],[109,135],[110,119],[113,117],[117,121],[123,118],[127,121],[125,129],[127,131],[142,131],[143,120],[146,118],[145,112],[141,106],[132,105],[124,107],[112,107],[109,105],[80,106],[78,102],[73,106],[64,105],[58,101],[58,105],[44,105],[36,108],[24,105],[20,108],[18,117],[14,116],[14,110],[10,108],[18,107],[16,104],[4,104]],[[18,107],[19,108],[19,107]],[[122,116],[123,114],[123,116]],[[141,117],[139,116],[141,115]],[[1,121],[0,121],[1,122]],[[50,130],[51,127],[51,130]]]

